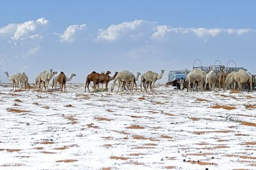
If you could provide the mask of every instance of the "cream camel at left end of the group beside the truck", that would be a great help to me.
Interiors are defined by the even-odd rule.
[[[196,91],[198,91],[196,83],[199,83],[199,87],[202,92],[204,90],[205,76],[206,76],[206,73],[204,71],[197,70],[197,69],[188,73],[186,76],[187,92],[189,92],[189,90],[191,90],[191,83],[193,83],[193,92],[195,92],[195,89],[196,89]]]

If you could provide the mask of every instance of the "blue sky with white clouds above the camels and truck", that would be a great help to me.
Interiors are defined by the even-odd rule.
[[[256,74],[256,1],[0,1],[0,80],[44,71],[136,74],[194,66]],[[198,60],[197,60],[198,59]],[[234,62],[230,62],[230,60]],[[196,62],[195,62],[196,61]],[[217,62],[216,62],[217,61]],[[195,62],[195,64],[194,64]]]

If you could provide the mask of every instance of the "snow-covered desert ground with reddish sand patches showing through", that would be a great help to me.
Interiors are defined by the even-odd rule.
[[[256,92],[0,87],[0,169],[256,169]]]

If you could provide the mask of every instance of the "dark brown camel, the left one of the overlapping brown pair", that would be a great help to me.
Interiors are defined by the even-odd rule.
[[[86,81],[85,81],[84,92],[86,92],[86,87],[87,87],[88,91],[90,92],[89,85],[90,85],[91,81],[93,81],[93,89],[97,85],[98,85],[98,88],[99,88],[100,81],[105,83],[105,81],[108,80],[108,82],[109,82],[110,81],[109,80],[109,74],[111,74],[110,71],[107,71],[105,74],[104,73],[96,73],[95,71],[88,74],[88,76],[86,77]]]

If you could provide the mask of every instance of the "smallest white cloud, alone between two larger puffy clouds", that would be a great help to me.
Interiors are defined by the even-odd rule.
[[[82,25],[70,25],[67,29],[60,35],[61,43],[72,43],[76,39],[76,34],[79,31],[86,29],[86,24]]]

